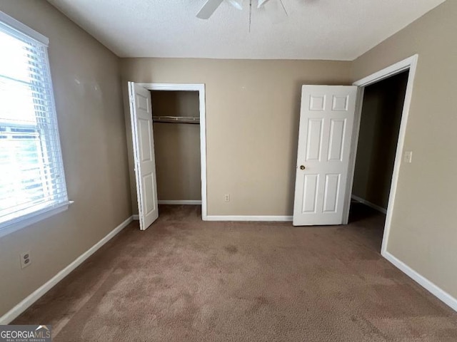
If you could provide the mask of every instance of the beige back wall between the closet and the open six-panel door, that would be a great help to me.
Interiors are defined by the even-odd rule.
[[[351,63],[338,61],[122,58],[121,66],[124,88],[206,84],[209,215],[291,215],[301,85],[351,78]]]

